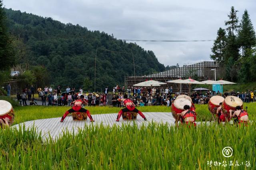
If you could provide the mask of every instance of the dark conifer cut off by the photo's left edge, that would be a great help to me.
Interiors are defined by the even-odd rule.
[[[6,27],[6,15],[0,0],[0,70],[6,70],[16,64],[12,40]]]

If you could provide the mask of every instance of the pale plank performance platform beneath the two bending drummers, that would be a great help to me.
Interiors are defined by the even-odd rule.
[[[122,123],[124,124],[131,124],[136,123],[138,126],[142,125],[144,123],[147,125],[148,123],[154,121],[156,123],[168,123],[169,125],[175,125],[175,119],[172,117],[171,112],[144,112],[143,113],[147,121],[144,121],[144,119],[138,114],[136,120],[123,120],[122,117],[120,118],[119,122],[116,122],[117,113],[111,113],[111,114],[98,114],[98,115],[92,115],[95,122],[93,122],[94,125],[109,125],[110,127],[113,125],[121,126]],[[72,116],[68,116],[65,118],[64,122],[60,122],[61,117],[56,118],[50,118],[50,119],[38,119],[33,121],[26,121],[17,125],[13,125],[12,127],[19,127],[19,125],[23,124],[25,125],[26,129],[33,127],[36,127],[37,132],[42,132],[42,136],[44,138],[47,138],[50,134],[50,136],[55,139],[56,137],[59,137],[62,135],[63,131],[66,129],[70,132],[78,132],[78,129],[83,129],[85,125],[90,125],[92,122],[90,122],[90,119],[87,118],[86,121],[73,121]]]

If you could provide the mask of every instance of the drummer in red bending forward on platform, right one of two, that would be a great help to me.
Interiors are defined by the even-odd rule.
[[[132,102],[132,100],[128,99],[128,96],[125,94],[124,95],[124,98],[123,99],[118,99],[119,102],[123,101],[124,102],[124,105],[126,106],[124,109],[121,109],[119,112],[118,112],[118,115],[117,115],[117,118],[116,118],[116,121],[119,121],[120,117],[122,116],[123,113],[125,112],[136,112],[136,113],[139,113],[140,116],[142,118],[144,118],[144,120],[146,121],[146,117],[145,115],[139,111],[138,109],[135,108],[135,104]]]

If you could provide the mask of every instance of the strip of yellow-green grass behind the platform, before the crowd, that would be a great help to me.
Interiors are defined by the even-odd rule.
[[[248,106],[248,113],[250,119],[255,119],[256,104],[250,103],[246,104]],[[66,110],[70,107],[54,107],[54,106],[27,106],[27,107],[16,107],[14,109],[15,118],[14,124],[22,123],[24,121],[36,120],[36,119],[46,119],[53,117],[62,117]],[[102,113],[118,113],[120,107],[86,107],[92,115],[102,114]],[[171,112],[170,107],[165,106],[145,106],[138,107],[142,112]],[[196,105],[197,121],[210,121],[211,114],[208,110],[207,105]]]

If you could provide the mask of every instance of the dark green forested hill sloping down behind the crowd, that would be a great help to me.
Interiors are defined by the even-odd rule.
[[[97,45],[97,90],[105,86],[112,88],[116,84],[123,85],[124,76],[134,75],[132,53],[137,75],[152,74],[165,69],[152,51],[145,51],[134,43],[118,40],[113,35],[26,12],[12,9],[5,11],[20,64],[29,65],[30,68],[45,67],[50,80],[47,85],[60,84],[62,87],[79,88],[83,86],[85,78],[89,78],[91,83],[94,82]],[[94,89],[92,85],[91,89]]]

